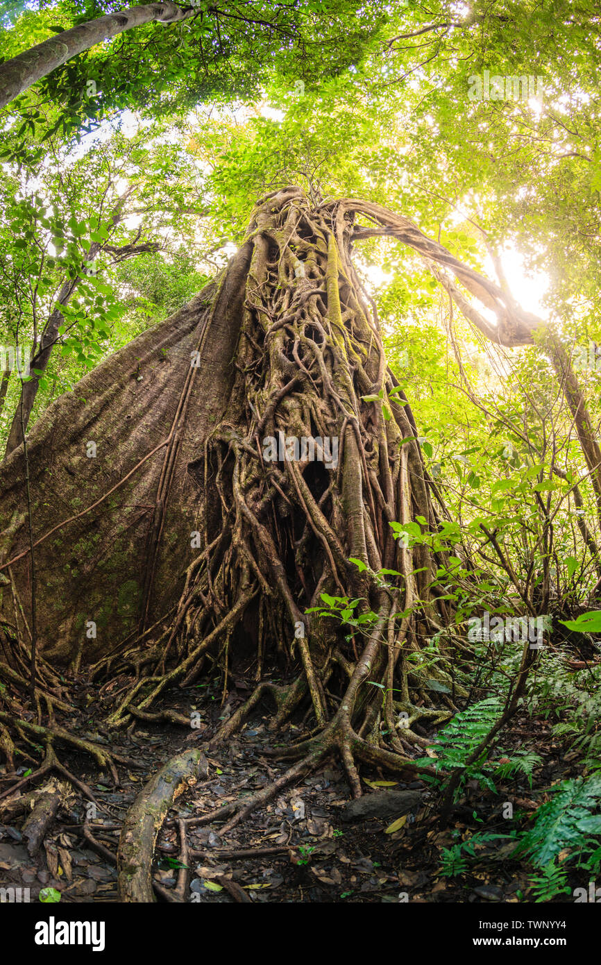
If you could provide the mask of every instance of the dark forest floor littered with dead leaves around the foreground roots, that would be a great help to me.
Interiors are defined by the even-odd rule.
[[[252,687],[252,680],[236,678],[224,707],[216,685],[213,690],[210,683],[167,695],[165,705],[182,713],[189,713],[190,707],[199,711],[200,727],[187,735],[180,727],[153,723],[111,734],[102,730],[90,710],[82,709],[78,735],[110,744],[115,753],[134,758],[139,767],[128,770],[119,765],[122,784],[115,787],[109,775],[99,773],[93,762],[78,754],[64,754],[62,760],[71,773],[94,790],[99,808],[90,829],[96,841],[115,853],[123,816],[145,781],[179,751],[205,744]],[[82,685],[82,707],[87,689]],[[239,734],[208,753],[208,778],[192,779],[178,797],[155,850],[153,879],[163,889],[159,901],[176,886],[178,817],[208,813],[255,792],[286,769],[286,764],[269,757],[269,752],[298,741],[303,728],[290,724],[278,733],[268,730],[269,710],[266,705],[259,706]],[[218,825],[193,827],[188,846],[196,853],[188,859],[186,900],[235,900],[232,889],[219,883],[225,878],[241,886],[247,900],[260,902],[533,901],[529,884],[533,869],[510,859],[510,841],[478,845],[469,869],[452,877],[441,874],[443,849],[476,832],[508,834],[517,827],[517,819],[523,827],[529,815],[547,800],[550,786],[579,774],[578,756],[562,748],[544,720],[526,714],[516,716],[502,737],[505,753],[530,750],[542,758],[542,765],[534,770],[532,788],[520,774],[510,783],[499,783],[497,793],[468,785],[445,828],[439,822],[440,797],[435,787],[416,781],[403,783],[365,767],[361,773],[368,794],[377,794],[383,787],[409,788],[423,792],[422,802],[392,833],[388,829],[396,820],[394,813],[378,819],[348,820],[344,808],[349,789],[341,766],[333,759],[252,813],[227,837],[220,836]],[[26,768],[20,770],[23,773]],[[0,791],[7,787],[0,769]],[[503,816],[505,802],[513,805],[513,820]],[[73,792],[68,804],[70,819],[63,812],[34,857],[22,840],[22,818],[13,824],[0,824],[0,886],[29,888],[31,900],[37,899],[41,888],[49,886],[61,892],[63,901],[117,901],[115,863],[108,860],[106,852],[98,853],[101,848],[96,850],[82,835],[85,807],[83,795]],[[232,856],[232,852],[247,849],[255,849],[255,856]],[[587,872],[571,875],[570,886],[587,887],[587,877]],[[574,899],[559,896],[554,900]]]

